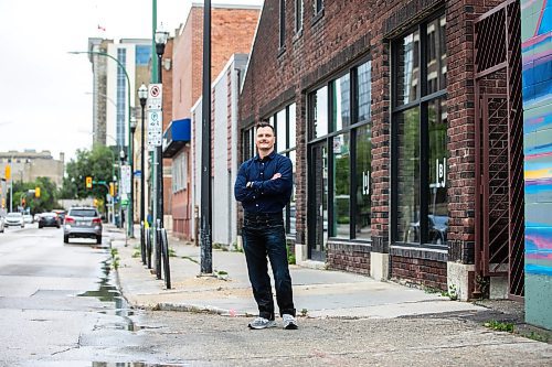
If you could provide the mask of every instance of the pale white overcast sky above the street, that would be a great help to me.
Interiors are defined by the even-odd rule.
[[[158,23],[172,35],[191,3],[158,0]],[[86,51],[91,36],[150,37],[151,11],[151,0],[0,0],[0,151],[64,152],[68,161],[91,149],[92,64],[67,52]]]

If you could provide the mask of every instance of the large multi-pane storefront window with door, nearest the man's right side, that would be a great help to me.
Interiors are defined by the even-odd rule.
[[[351,67],[308,98],[309,256],[328,238],[370,240],[371,62]],[[329,225],[328,225],[329,224]]]

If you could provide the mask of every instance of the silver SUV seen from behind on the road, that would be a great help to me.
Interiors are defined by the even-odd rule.
[[[97,208],[92,206],[73,206],[68,209],[63,225],[63,241],[70,238],[96,238],[102,244],[102,218]]]

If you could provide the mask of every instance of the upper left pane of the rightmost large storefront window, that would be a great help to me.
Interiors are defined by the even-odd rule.
[[[417,99],[420,32],[406,35],[397,45],[396,105]]]

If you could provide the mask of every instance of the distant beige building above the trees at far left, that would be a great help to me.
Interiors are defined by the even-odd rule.
[[[61,187],[65,171],[65,154],[60,153],[60,159],[55,160],[47,150],[42,152],[35,150],[0,152],[0,175],[2,177],[7,165],[11,166],[13,181],[33,182],[38,177],[47,177],[57,187]]]

